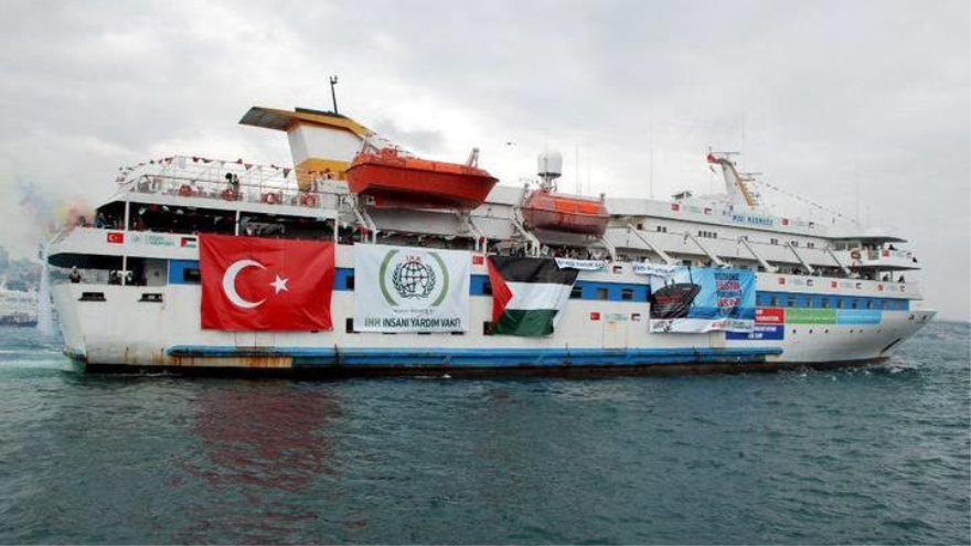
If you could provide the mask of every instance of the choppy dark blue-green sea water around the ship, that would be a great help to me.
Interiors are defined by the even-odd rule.
[[[2,544],[967,544],[971,325],[866,371],[98,377],[0,330]]]

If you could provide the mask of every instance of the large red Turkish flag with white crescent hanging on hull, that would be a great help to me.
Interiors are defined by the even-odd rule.
[[[202,328],[333,328],[333,243],[203,234],[199,246]]]

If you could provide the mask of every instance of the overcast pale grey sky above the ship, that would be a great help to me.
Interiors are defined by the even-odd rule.
[[[741,150],[775,185],[896,226],[929,303],[971,319],[968,1],[0,2],[0,244],[18,255],[38,233],[19,185],[94,204],[149,158],[289,163],[281,133],[236,122],[328,109],[339,74],[342,113],[439,159],[478,146],[512,183],[557,148],[573,191],[579,147],[585,191],[707,192],[707,146]]]

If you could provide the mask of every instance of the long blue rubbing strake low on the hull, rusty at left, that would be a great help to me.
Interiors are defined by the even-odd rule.
[[[235,347],[175,345],[167,350],[177,358],[290,357],[292,366],[342,367],[567,367],[639,366],[648,364],[758,363],[780,347],[683,349],[334,349]]]

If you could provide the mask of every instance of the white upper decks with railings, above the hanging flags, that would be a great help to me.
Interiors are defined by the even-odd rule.
[[[299,180],[310,180],[300,189]],[[512,251],[516,248],[615,263],[654,261],[732,266],[760,272],[897,283],[900,271],[918,269],[908,249],[890,235],[854,236],[845,226],[745,211],[730,203],[607,200],[611,224],[602,238],[531,233],[520,207],[529,186],[497,186],[482,206],[467,213],[376,208],[348,192],[326,171],[298,172],[243,160],[171,157],[124,169],[119,190],[98,208],[95,231],[117,231],[122,246],[105,247],[87,229],[66,233],[52,256],[181,256],[160,234],[332,238],[338,243]],[[855,238],[854,238],[855,237]],[[174,239],[173,239],[174,240]],[[141,248],[127,242],[142,242]],[[145,246],[148,245],[148,246]],[[174,253],[172,256],[170,254]],[[62,260],[64,261],[64,260]],[[791,285],[790,285],[791,286]]]

